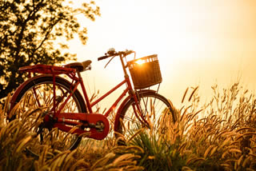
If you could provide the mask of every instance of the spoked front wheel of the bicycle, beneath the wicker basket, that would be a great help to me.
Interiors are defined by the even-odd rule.
[[[153,100],[154,100],[153,103],[150,102]],[[151,129],[154,129],[155,131],[157,131],[156,129],[159,129],[158,120],[161,119],[161,116],[164,113],[170,114],[170,116],[172,117],[171,121],[173,123],[176,121],[173,106],[166,99],[166,97],[163,97],[161,94],[156,93],[154,91],[142,91],[138,93],[138,101],[141,105],[142,112],[143,112],[142,114],[143,116],[145,116],[145,118],[147,114],[152,115],[152,113],[154,113],[155,117],[152,118],[152,121],[148,120],[148,118],[150,117],[146,118],[146,121],[150,122]],[[126,102],[126,105],[123,107],[120,113],[120,117],[117,125],[118,127],[117,132],[121,133],[125,137],[132,136],[138,129],[144,127],[142,125],[142,122],[138,121],[138,118],[135,117],[134,109],[132,107],[134,103],[135,103],[134,98],[130,98],[130,100]],[[162,103],[162,106],[159,107],[158,106],[159,103]],[[152,105],[154,105],[154,108],[152,108]],[[154,109],[154,111],[152,111],[151,109]],[[157,112],[155,111],[155,109],[157,109]],[[166,111],[165,109],[169,109],[169,111]],[[120,136],[116,134],[116,137],[118,138]],[[118,144],[122,145],[123,141],[118,141]]]

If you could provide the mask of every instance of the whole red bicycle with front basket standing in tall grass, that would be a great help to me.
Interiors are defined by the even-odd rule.
[[[134,54],[134,60],[127,62],[126,56],[129,54]],[[135,59],[135,52],[132,50],[116,52],[112,49],[98,58],[98,61],[106,58],[111,61],[114,57],[121,60],[124,80],[94,101],[90,101],[81,76],[81,72],[90,70],[90,60],[66,66],[34,65],[19,69],[21,72],[28,72],[30,78],[11,97],[8,117],[14,120],[34,111],[26,118],[34,126],[30,131],[35,134],[34,145],[27,148],[30,153],[42,153],[44,144],[50,144],[58,150],[72,150],[78,146],[83,136],[102,140],[110,132],[110,125],[117,132],[116,137],[119,133],[126,135],[142,126],[158,127],[157,121],[163,113],[171,113],[175,121],[174,111],[166,97],[156,90],[146,89],[162,82],[157,55]],[[61,74],[66,76],[61,77]],[[82,88],[83,96],[78,85]],[[122,85],[126,85],[126,89],[105,113],[93,111],[94,105]],[[113,112],[114,121],[110,124],[109,117]],[[63,141],[61,137],[67,141]]]

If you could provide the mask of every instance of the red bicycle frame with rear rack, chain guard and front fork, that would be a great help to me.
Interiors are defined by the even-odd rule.
[[[120,57],[120,58],[122,59],[122,57]],[[116,129],[117,129],[116,123],[120,117],[122,107],[126,104],[126,102],[128,100],[130,100],[130,98],[134,98],[133,108],[134,108],[135,116],[142,123],[148,124],[146,119],[144,117],[142,117],[142,112],[140,112],[141,109],[140,109],[140,105],[138,103],[138,97],[137,97],[136,92],[132,88],[130,78],[129,78],[128,74],[126,73],[126,68],[123,64],[123,61],[122,61],[122,66],[123,66],[123,70],[125,73],[124,80],[122,82],[120,82],[118,85],[114,86],[113,89],[110,89],[110,91],[103,94],[102,97],[99,97],[98,100],[95,100],[92,102],[90,102],[89,97],[86,93],[86,87],[82,81],[82,76],[81,76],[80,72],[77,72],[76,70],[74,70],[72,68],[65,68],[65,67],[60,67],[60,66],[46,66],[46,65],[25,66],[25,67],[21,68],[20,70],[23,72],[29,72],[30,79],[27,80],[26,82],[24,82],[22,85],[20,85],[18,87],[18,89],[15,91],[15,93],[11,99],[11,102],[10,102],[10,110],[14,108],[14,105],[15,105],[14,101],[15,101],[16,97],[18,96],[19,92],[23,89],[23,87],[26,84],[33,82],[33,80],[35,79],[35,78],[31,77],[31,73],[41,74],[38,77],[46,77],[46,75],[49,76],[49,74],[50,74],[50,77],[53,78],[53,85],[54,85],[54,87],[53,87],[54,104],[53,104],[53,108],[50,109],[50,112],[47,113],[46,116],[44,117],[44,121],[46,121],[46,122],[52,121],[52,124],[54,125],[53,127],[58,127],[58,129],[61,129],[62,131],[70,132],[70,133],[77,133],[77,134],[90,133],[90,135],[87,137],[101,140],[104,137],[106,137],[106,135],[109,133],[110,125],[109,125],[109,121],[107,120],[106,117],[108,117],[110,115],[110,112],[115,109],[115,107],[118,105],[118,103],[120,101],[122,101],[122,98],[126,96],[126,93],[129,93],[129,96],[126,97],[122,101],[121,105],[119,105],[118,112],[116,113],[116,116],[115,116],[114,130],[116,131]],[[69,96],[66,97],[66,100],[58,108],[58,111],[56,111],[56,106],[58,106],[60,103],[59,101],[56,100],[56,92],[55,92],[55,88],[56,88],[55,87],[56,86],[55,79],[58,77],[58,74],[66,74],[71,79],[71,87],[70,87]],[[60,77],[58,77],[58,78],[60,78]],[[62,79],[65,80],[64,78],[62,78]],[[103,113],[103,114],[93,113],[92,107],[94,105],[98,104],[99,101],[102,101],[102,99],[109,96],[116,89],[120,88],[122,85],[125,85],[125,84],[126,84],[126,89],[123,91],[123,93],[121,93],[121,95],[117,98],[117,100],[114,101],[114,104],[110,106],[110,108],[106,111],[106,113]],[[85,113],[61,113],[61,111],[64,108],[64,106],[66,105],[67,101],[69,101],[70,97],[73,95],[75,90],[78,89],[78,85],[81,85],[81,88],[82,88],[82,93],[83,93],[83,98],[84,98],[85,105],[87,108],[87,113],[86,114]],[[36,92],[34,91],[34,93],[36,93]],[[64,97],[62,97],[62,99],[63,98]],[[38,103],[39,103],[39,101],[38,101]],[[41,105],[38,104],[38,106],[41,106]],[[72,120],[77,120],[77,121],[72,121]],[[97,129],[102,129],[101,125],[98,125],[99,121],[101,123],[103,123],[104,127],[106,128],[106,129],[102,130],[102,132],[97,130]],[[86,122],[89,122],[89,124]],[[69,126],[69,125],[71,125],[71,126]],[[74,127],[72,127],[73,125],[78,126],[78,129],[74,129]],[[80,129],[81,126],[88,126],[92,129],[90,129],[90,131],[86,131],[84,129]]]

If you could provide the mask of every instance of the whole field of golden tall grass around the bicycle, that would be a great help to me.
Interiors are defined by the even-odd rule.
[[[198,87],[186,89],[182,107],[175,109],[178,121],[166,113],[157,130],[139,129],[126,146],[84,138],[74,151],[45,145],[38,158],[26,154],[34,138],[26,116],[7,122],[2,106],[0,170],[256,170],[254,94],[238,83],[212,89],[203,105]]]

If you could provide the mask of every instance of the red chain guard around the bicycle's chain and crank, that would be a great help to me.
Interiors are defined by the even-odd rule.
[[[104,139],[110,130],[107,118],[97,113],[58,113],[54,127],[96,140]]]

